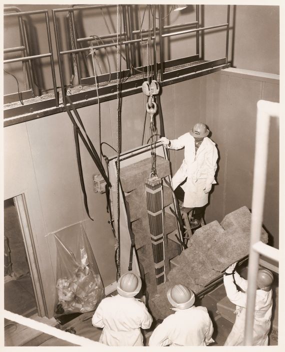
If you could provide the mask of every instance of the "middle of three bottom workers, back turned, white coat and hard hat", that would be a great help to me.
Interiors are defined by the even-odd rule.
[[[211,338],[213,325],[207,309],[195,307],[194,293],[177,284],[167,291],[174,314],[167,316],[152,332],[149,346],[205,346]]]

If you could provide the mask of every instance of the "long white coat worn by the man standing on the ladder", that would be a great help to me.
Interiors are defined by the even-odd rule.
[[[187,177],[186,182],[181,185],[185,192],[183,206],[199,207],[207,204],[208,193],[204,193],[203,189],[206,184],[216,183],[214,174],[218,155],[215,143],[210,138],[204,137],[195,152],[195,139],[189,132],[170,142],[170,149],[184,147],[184,159],[172,177],[173,189]]]

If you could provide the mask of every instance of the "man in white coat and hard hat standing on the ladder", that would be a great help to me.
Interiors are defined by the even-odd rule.
[[[184,148],[184,159],[172,177],[176,197],[183,202],[181,209],[189,212],[195,208],[193,227],[201,223],[208,193],[214,179],[218,157],[215,143],[207,137],[209,130],[202,122],[194,124],[192,129],[177,139],[161,137],[160,141],[170,149]]]

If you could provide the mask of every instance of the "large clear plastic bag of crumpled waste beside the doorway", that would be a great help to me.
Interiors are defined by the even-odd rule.
[[[82,224],[54,233],[57,263],[56,314],[96,309],[104,287],[95,257]]]

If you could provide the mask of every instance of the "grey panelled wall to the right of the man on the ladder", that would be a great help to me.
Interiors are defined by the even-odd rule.
[[[251,208],[256,102],[279,101],[279,79],[250,71],[223,70],[206,76],[206,123],[219,150],[218,184],[214,186],[206,219],[221,219],[246,205]],[[278,247],[279,125],[270,125],[263,224]]]

